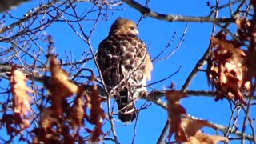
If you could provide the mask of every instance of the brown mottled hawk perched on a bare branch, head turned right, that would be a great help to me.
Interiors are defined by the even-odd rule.
[[[134,22],[117,18],[98,47],[97,62],[108,92],[118,103],[118,116],[129,123],[137,117],[136,92],[146,90],[153,65]],[[138,96],[137,96],[138,97]]]

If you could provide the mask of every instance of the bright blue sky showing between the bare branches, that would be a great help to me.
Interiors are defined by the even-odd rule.
[[[144,1],[141,1],[144,3]],[[150,2],[150,8],[163,14],[178,14],[187,16],[206,16],[210,14],[210,8],[206,6],[207,0],[198,2],[184,0],[168,1],[163,0],[161,2]],[[214,1],[210,1],[213,2]],[[23,14],[26,14],[32,7],[38,6],[38,1],[28,2],[16,10],[10,10],[11,14],[14,14],[18,18],[21,18]],[[77,3],[78,11],[82,11],[85,8],[90,8],[86,2]],[[130,6],[124,4],[125,10],[122,11],[109,11],[108,21],[98,22],[94,34],[90,38],[91,45],[94,52],[98,49],[99,42],[106,38],[111,24],[115,18],[129,18],[138,22],[140,14],[137,10],[134,10]],[[228,16],[228,10],[222,10],[220,16]],[[1,17],[1,14],[0,14]],[[90,18],[94,18],[95,15],[91,14]],[[6,23],[9,23],[6,18]],[[10,20],[11,22],[11,20]],[[83,30],[86,32],[91,30],[93,22],[83,21],[81,22]],[[76,24],[74,24],[75,26]],[[196,62],[202,57],[202,54],[207,49],[210,42],[210,34],[212,30],[212,24],[210,23],[189,23],[188,30],[186,32],[185,40],[182,42],[182,46],[178,51],[170,58],[154,63],[154,70],[152,73],[152,80],[150,82],[157,82],[162,78],[166,78],[170,74],[173,74],[178,67],[181,66],[181,70],[178,74],[172,78],[155,84],[153,87],[157,90],[165,90],[166,86],[170,86],[170,82],[174,82],[176,89],[180,90],[183,83],[186,81],[190,71],[194,68]],[[76,26],[78,30],[78,26]],[[159,21],[154,18],[145,18],[138,26],[140,32],[139,38],[141,38],[147,46],[150,45],[150,55],[154,58],[158,55],[170,41],[170,38],[176,32],[174,42],[171,43],[169,49],[165,54],[169,54],[178,45],[179,39],[182,37],[183,31],[186,28],[186,22],[165,22]],[[70,29],[65,22],[55,22],[42,33],[50,34],[54,38],[54,46],[56,52],[59,55],[58,58],[63,58],[65,61],[65,52],[69,54],[72,50],[74,60],[79,60],[84,50],[88,51],[88,46],[85,42],[82,42],[74,31]],[[47,49],[47,43],[42,43],[41,46]],[[35,50],[37,50],[35,48]],[[165,55],[164,54],[164,55]],[[43,59],[43,58],[42,58]],[[29,61],[29,60],[28,60]],[[85,67],[94,68],[93,62],[86,63]],[[97,70],[95,70],[97,72]],[[150,82],[148,82],[150,84]],[[150,89],[148,89],[150,90]],[[194,78],[188,90],[211,90],[206,80],[206,74],[199,72]],[[162,98],[164,100],[164,98]],[[144,100],[137,102],[137,107],[142,106]],[[150,102],[149,102],[150,103]],[[104,104],[103,104],[104,106]],[[215,102],[214,98],[195,97],[191,96],[182,100],[182,106],[186,108],[186,111],[190,115],[195,117],[209,120],[222,125],[227,125],[230,119],[230,105],[224,99],[223,101]],[[251,111],[253,114],[254,111]],[[238,122],[242,124],[242,114]],[[161,107],[152,104],[146,110],[142,110],[138,117],[138,124],[136,128],[135,143],[155,143],[158,140],[159,134],[162,131],[163,126],[166,123],[167,112]],[[116,122],[116,130],[118,140],[121,143],[130,143],[133,137],[134,122],[128,126],[124,126],[122,122]],[[250,132],[250,130],[248,130]],[[106,131],[105,131],[106,132]],[[207,130],[205,131],[207,133]],[[209,130],[211,134],[215,134],[212,130]],[[112,143],[112,142],[106,142]],[[232,142],[235,143],[235,142]]]

